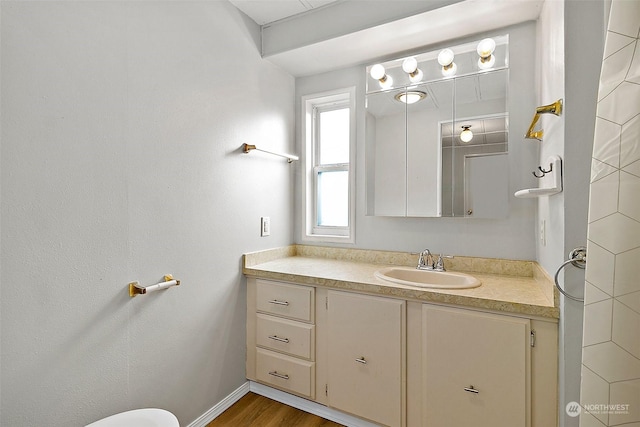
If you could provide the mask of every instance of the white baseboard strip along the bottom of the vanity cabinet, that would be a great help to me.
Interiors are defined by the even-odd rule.
[[[285,393],[284,391],[280,391],[263,384],[258,384],[254,381],[249,381],[249,383],[249,391],[252,391],[255,394],[268,397],[269,399],[273,399],[280,403],[284,403],[285,405],[317,415],[338,424],[342,424],[347,427],[379,427],[378,424],[373,424],[361,418],[354,417],[353,415],[331,409],[319,403],[312,402],[311,400],[303,399],[302,397],[294,396],[292,394]]]

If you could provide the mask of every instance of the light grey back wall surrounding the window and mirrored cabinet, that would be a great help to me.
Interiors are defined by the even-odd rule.
[[[449,44],[478,40],[485,35],[510,34],[510,141],[511,163],[509,191],[530,188],[535,178],[530,171],[537,166],[537,147],[522,136],[535,108],[534,78],[531,66],[535,60],[535,23],[528,22],[492,33],[452,40]],[[422,51],[435,50],[446,45],[429,46]],[[391,58],[383,58],[391,59]],[[373,61],[372,61],[373,62]],[[535,259],[535,202],[510,199],[509,218],[504,220],[466,218],[390,218],[366,216],[365,184],[365,64],[330,73],[296,79],[296,115],[300,115],[299,99],[303,95],[319,93],[356,85],[357,108],[357,163],[356,163],[356,244],[355,247],[401,251],[419,251],[429,248],[435,253],[483,256],[509,259]],[[298,120],[297,123],[300,121]],[[296,130],[298,147],[300,129]],[[300,171],[296,185],[301,183]],[[296,208],[302,204],[296,193]],[[301,213],[297,211],[296,241],[301,241]],[[498,237],[499,238],[496,238]]]

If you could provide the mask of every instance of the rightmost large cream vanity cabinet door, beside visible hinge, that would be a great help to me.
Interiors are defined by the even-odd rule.
[[[423,306],[423,426],[529,425],[529,320]]]

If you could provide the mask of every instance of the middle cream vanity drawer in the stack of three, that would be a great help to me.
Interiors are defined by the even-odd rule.
[[[313,359],[315,326],[265,314],[258,314],[257,317],[257,345],[291,356]]]

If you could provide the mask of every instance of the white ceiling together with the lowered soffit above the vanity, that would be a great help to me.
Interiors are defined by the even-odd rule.
[[[263,58],[320,74],[536,20],[544,0],[229,0],[262,27]],[[390,9],[376,7],[393,5]],[[390,6],[389,6],[390,7]],[[428,9],[423,12],[419,10]],[[413,10],[415,9],[415,10]],[[413,10],[413,13],[409,13]],[[403,17],[404,16],[404,17]],[[473,19],[469,19],[473,16]]]

